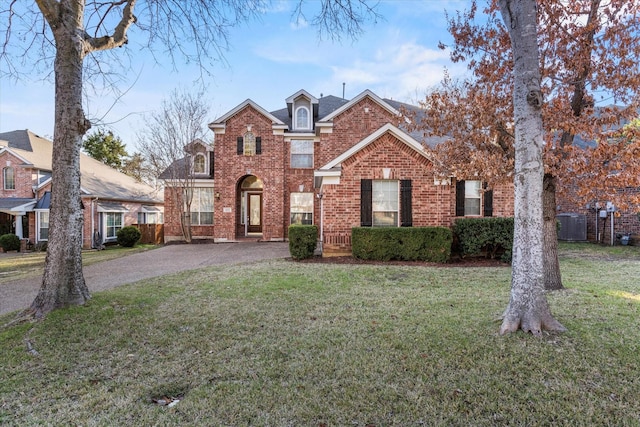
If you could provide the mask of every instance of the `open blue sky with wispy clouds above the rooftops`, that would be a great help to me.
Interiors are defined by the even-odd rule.
[[[438,42],[450,41],[445,10],[453,15],[468,5],[466,0],[381,1],[378,11],[384,19],[368,23],[355,41],[343,37],[333,42],[320,40],[317,29],[305,22],[292,22],[294,1],[274,0],[260,20],[231,31],[226,64],[205,77],[209,121],[247,98],[272,111],[300,89],[316,97],[342,96],[343,83],[346,98],[370,89],[381,97],[415,102],[438,84],[445,68],[454,77],[466,72],[464,65],[451,63]],[[173,70],[169,63],[136,52],[117,102],[109,91],[87,91],[85,110],[133,152],[137,134],[144,131],[144,114],[160,109],[174,89],[190,88],[199,77],[195,65],[177,64]],[[42,75],[17,83],[2,79],[0,132],[28,128],[52,137],[53,97],[53,83]]]

